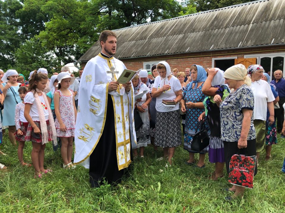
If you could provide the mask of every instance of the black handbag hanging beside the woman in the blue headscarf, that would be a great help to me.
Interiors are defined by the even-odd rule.
[[[200,131],[197,133],[198,127],[200,126]],[[193,136],[193,140],[191,142],[191,149],[194,151],[202,151],[207,146],[209,146],[210,138],[208,132],[203,129],[204,123],[200,121],[199,125],[197,125],[195,135]]]

